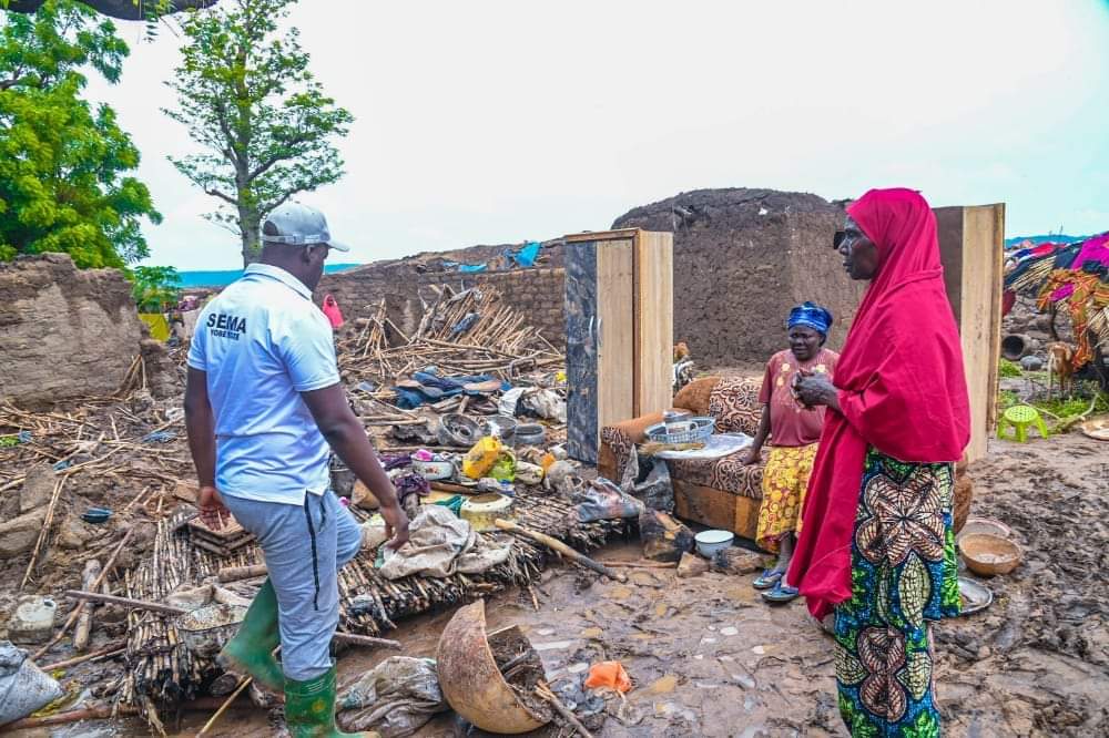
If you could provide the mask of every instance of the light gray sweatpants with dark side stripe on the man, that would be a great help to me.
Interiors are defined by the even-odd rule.
[[[306,494],[303,508],[230,494],[223,502],[265,555],[277,593],[282,670],[296,681],[314,679],[332,667],[338,570],[362,547],[358,524],[333,492]]]

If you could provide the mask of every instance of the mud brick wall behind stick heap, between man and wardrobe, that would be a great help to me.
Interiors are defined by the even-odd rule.
[[[316,299],[334,295],[347,319],[368,317],[385,299],[389,318],[406,334],[411,334],[424,315],[424,305],[435,300],[433,287],[448,285],[461,290],[491,287],[506,305],[527,316],[527,321],[543,337],[561,347],[566,342],[562,267],[540,267],[459,274],[419,271],[405,262],[370,264],[365,267],[325,275],[316,289]],[[423,300],[421,300],[423,298]]]

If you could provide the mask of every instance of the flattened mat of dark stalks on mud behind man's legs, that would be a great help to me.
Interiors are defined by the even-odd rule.
[[[356,517],[366,513],[352,508]],[[573,506],[559,498],[521,489],[513,508],[523,526],[560,539],[577,547],[598,547],[611,536],[627,532],[621,521],[579,523]],[[128,597],[164,602],[175,590],[191,587],[237,570],[243,575],[265,575],[264,558],[257,544],[231,556],[218,556],[195,545],[184,517],[187,506],[157,522],[153,550],[125,581]],[[456,574],[446,578],[409,576],[389,581],[374,567],[374,552],[364,551],[339,573],[342,629],[377,636],[397,627],[404,617],[449,607],[509,586],[530,587],[538,581],[551,553],[523,536],[490,533],[511,543],[509,560],[479,575]],[[261,580],[258,580],[261,582]],[[193,699],[222,673],[214,662],[192,654],[181,642],[172,615],[134,611],[129,615],[125,652],[126,669],[116,694],[121,704],[132,705],[156,725],[152,709],[172,709]]]

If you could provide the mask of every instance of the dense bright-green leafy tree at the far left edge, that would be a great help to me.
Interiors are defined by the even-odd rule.
[[[147,256],[150,191],[128,173],[139,151],[108,105],[82,100],[91,66],[120,78],[126,44],[111,21],[71,0],[0,16],[0,260],[63,252],[79,267]]]

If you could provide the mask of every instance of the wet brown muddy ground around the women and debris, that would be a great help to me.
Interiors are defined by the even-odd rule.
[[[994,441],[971,473],[971,514],[1010,525],[1025,561],[1010,575],[981,580],[994,592],[991,607],[936,627],[945,735],[1109,735],[1109,444],[1078,433]],[[638,555],[629,541],[598,557]],[[507,593],[488,603],[489,627],[520,624],[556,687],[593,662],[622,662],[634,689],[587,719],[598,736],[846,735],[831,640],[801,601],[766,606],[751,576],[629,574],[620,584],[552,570],[538,588],[538,612],[530,596]],[[449,617],[409,621],[394,636],[406,653],[433,656]],[[347,652],[340,673],[350,679],[388,655]],[[195,735],[207,717],[189,715],[175,735]],[[263,711],[233,710],[210,735],[268,736],[272,725]],[[13,735],[144,734],[138,721],[101,721]],[[418,735],[482,734],[446,714]]]

